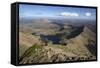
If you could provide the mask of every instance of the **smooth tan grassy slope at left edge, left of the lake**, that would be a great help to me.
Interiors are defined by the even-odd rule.
[[[19,55],[21,56],[27,48],[39,42],[39,37],[35,37],[29,33],[19,32]]]

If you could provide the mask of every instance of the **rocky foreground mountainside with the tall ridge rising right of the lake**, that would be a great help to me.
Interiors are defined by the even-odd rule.
[[[47,21],[47,20],[45,20]],[[66,32],[62,29],[61,32]],[[77,34],[75,33],[77,31]],[[34,44],[30,46],[20,57],[20,64],[69,62],[96,59],[96,34],[87,26],[73,27],[65,38],[66,45],[53,44],[52,42]],[[74,36],[73,36],[74,34]],[[62,35],[62,36],[64,36]],[[44,45],[47,44],[47,45]]]

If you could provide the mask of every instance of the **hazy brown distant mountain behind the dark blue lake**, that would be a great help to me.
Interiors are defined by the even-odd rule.
[[[55,33],[60,27],[54,24],[51,20],[47,18],[41,18],[36,20],[20,22],[20,31],[26,33],[38,33],[38,34],[52,34]]]

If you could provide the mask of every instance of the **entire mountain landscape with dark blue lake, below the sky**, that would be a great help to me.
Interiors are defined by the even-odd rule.
[[[22,19],[19,25],[19,63],[96,60],[93,26],[96,27],[94,21],[91,24],[91,21],[84,20]]]

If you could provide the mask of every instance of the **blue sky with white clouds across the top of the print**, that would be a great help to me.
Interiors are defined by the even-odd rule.
[[[69,18],[69,19],[88,19],[95,20],[95,8],[82,8],[82,7],[61,7],[61,6],[44,6],[44,5],[19,5],[20,18],[39,18],[39,17],[52,17],[52,18]]]

